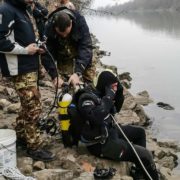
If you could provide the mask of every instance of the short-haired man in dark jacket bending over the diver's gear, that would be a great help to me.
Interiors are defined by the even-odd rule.
[[[74,87],[92,82],[95,62],[92,57],[92,40],[85,18],[78,11],[60,7],[49,15],[46,26],[47,47],[52,53],[61,75],[58,84],[68,80]],[[46,54],[45,59],[50,58]],[[57,84],[58,79],[54,79]]]

